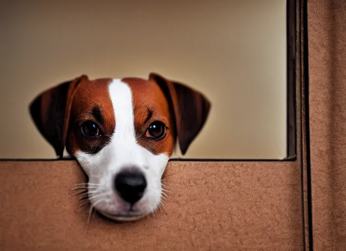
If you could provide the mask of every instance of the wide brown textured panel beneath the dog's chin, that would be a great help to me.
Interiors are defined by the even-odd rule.
[[[165,209],[117,225],[79,208],[74,161],[0,162],[0,250],[303,249],[297,162],[170,162]]]

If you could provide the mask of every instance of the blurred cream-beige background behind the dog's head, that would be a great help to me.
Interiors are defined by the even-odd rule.
[[[55,158],[28,113],[42,90],[151,71],[212,101],[185,157],[286,156],[285,0],[1,0],[0,31],[0,158]]]

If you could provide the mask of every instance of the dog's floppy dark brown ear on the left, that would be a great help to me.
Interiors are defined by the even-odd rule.
[[[87,79],[87,75],[81,75],[61,83],[39,94],[29,105],[31,119],[59,158],[65,148],[73,97],[79,84]]]

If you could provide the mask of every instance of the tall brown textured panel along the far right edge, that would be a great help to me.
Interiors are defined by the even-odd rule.
[[[346,1],[309,1],[314,248],[346,250]]]

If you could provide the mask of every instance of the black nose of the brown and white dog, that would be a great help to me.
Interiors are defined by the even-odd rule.
[[[115,176],[115,189],[130,204],[139,201],[146,188],[146,180],[140,172],[124,171]]]

